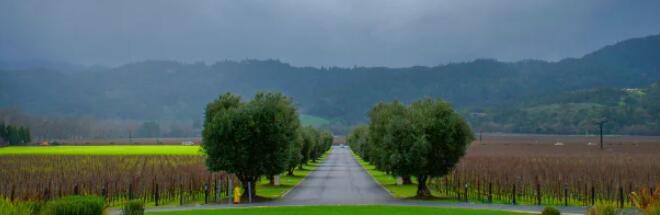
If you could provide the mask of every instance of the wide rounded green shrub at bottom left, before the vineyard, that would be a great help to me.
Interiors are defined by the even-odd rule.
[[[46,203],[42,215],[102,215],[103,198],[98,196],[67,196]]]

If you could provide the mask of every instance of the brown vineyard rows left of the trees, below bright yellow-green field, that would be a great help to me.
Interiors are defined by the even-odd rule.
[[[185,204],[204,201],[204,194],[219,201],[228,182],[226,174],[208,172],[202,156],[10,155],[0,167],[0,194],[12,200],[95,194],[109,205],[129,198]]]

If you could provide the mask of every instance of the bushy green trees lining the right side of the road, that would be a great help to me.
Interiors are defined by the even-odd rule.
[[[451,105],[423,99],[406,106],[379,103],[369,112],[369,125],[348,137],[351,149],[377,169],[417,178],[417,197],[431,197],[427,181],[446,175],[465,154],[474,134]]]

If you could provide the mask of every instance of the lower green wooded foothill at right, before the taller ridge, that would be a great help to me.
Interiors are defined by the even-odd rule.
[[[511,106],[465,110],[477,130],[595,134],[596,122],[617,134],[660,134],[660,83],[648,88],[579,90]]]

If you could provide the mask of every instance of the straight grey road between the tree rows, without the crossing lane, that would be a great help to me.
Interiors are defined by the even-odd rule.
[[[348,148],[333,147],[328,158],[280,200],[285,204],[370,204],[394,201],[355,161]]]

